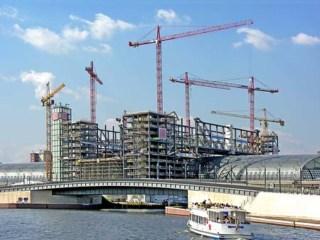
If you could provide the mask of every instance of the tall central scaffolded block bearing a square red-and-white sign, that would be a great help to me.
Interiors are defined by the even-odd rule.
[[[124,175],[128,178],[181,178],[183,162],[174,154],[176,115],[151,111],[123,116]]]

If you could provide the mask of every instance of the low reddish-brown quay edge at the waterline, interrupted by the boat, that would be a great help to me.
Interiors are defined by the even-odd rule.
[[[165,213],[169,215],[189,216],[189,209],[181,209],[176,207],[166,207]],[[306,220],[298,218],[270,218],[261,216],[247,216],[248,221],[274,224],[280,226],[302,227],[304,229],[315,229],[320,231],[320,221]]]

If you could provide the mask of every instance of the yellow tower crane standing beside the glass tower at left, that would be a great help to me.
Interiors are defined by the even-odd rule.
[[[46,106],[46,179],[48,182],[52,181],[52,155],[51,155],[51,105],[54,101],[51,100],[53,96],[65,87],[65,83],[62,83],[50,93],[50,82],[47,83],[46,96],[41,98],[42,106]]]

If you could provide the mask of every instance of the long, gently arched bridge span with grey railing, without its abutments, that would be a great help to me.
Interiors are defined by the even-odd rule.
[[[240,184],[200,182],[176,179],[94,179],[68,182],[50,182],[1,187],[0,192],[52,190],[60,195],[84,194],[170,194],[188,190],[255,196],[262,189]]]

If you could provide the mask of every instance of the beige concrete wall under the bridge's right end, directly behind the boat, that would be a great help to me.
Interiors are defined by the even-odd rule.
[[[201,203],[203,200],[210,201],[212,203],[218,202],[223,204],[233,204],[235,206],[242,206],[246,202],[252,200],[252,197],[235,195],[235,194],[223,194],[218,192],[203,192],[203,191],[188,191],[188,208],[191,207],[192,203]]]

